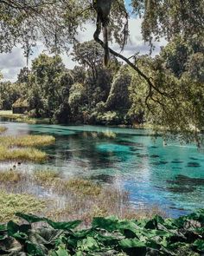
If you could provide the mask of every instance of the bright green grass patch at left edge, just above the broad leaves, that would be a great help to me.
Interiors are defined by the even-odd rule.
[[[37,199],[30,194],[12,194],[0,191],[0,223],[17,220],[16,212],[41,213],[46,207],[46,201]]]

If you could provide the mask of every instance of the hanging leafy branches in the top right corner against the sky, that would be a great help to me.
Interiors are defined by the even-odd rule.
[[[143,17],[142,33],[145,41],[152,43],[165,37],[168,41],[176,35],[203,37],[203,1],[194,0],[131,0],[133,12]]]

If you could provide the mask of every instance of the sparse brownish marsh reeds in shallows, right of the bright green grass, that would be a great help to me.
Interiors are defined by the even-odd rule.
[[[62,198],[63,207],[56,207],[48,213],[54,220],[83,220],[88,225],[93,217],[115,215],[126,219],[143,219],[155,214],[165,216],[159,207],[135,209],[131,206],[129,194],[117,187],[102,187],[92,181],[82,179],[61,179],[52,170],[34,173],[35,182]],[[50,191],[50,190],[49,190]],[[57,204],[58,205],[58,204]]]

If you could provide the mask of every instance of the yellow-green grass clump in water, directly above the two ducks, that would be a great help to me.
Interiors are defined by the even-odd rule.
[[[48,155],[36,148],[10,149],[0,146],[0,161],[46,161]]]

